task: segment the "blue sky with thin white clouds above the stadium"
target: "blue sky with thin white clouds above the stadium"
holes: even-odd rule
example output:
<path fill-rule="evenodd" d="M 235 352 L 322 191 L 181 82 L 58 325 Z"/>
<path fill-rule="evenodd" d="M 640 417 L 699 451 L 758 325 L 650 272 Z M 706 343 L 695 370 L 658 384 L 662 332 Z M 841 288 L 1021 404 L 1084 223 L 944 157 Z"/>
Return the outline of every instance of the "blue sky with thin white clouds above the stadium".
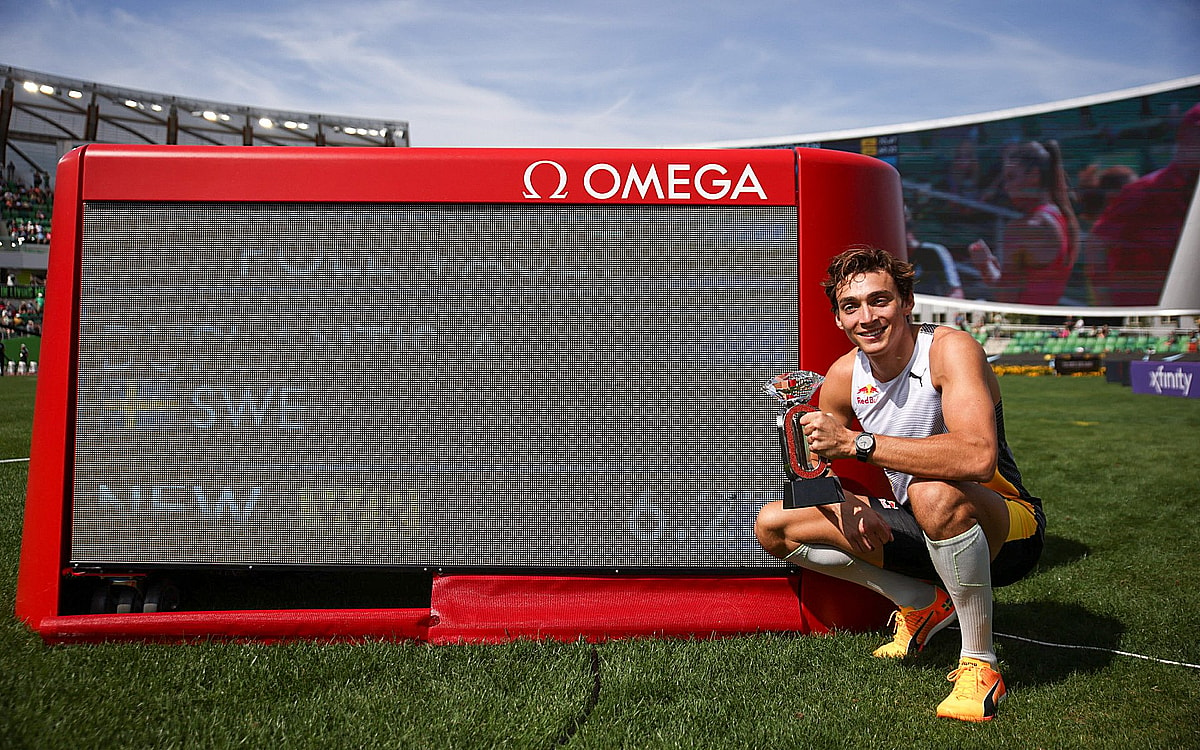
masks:
<path fill-rule="evenodd" d="M 0 64 L 408 120 L 422 146 L 892 125 L 1200 73 L 1195 0 L 0 0 Z"/>

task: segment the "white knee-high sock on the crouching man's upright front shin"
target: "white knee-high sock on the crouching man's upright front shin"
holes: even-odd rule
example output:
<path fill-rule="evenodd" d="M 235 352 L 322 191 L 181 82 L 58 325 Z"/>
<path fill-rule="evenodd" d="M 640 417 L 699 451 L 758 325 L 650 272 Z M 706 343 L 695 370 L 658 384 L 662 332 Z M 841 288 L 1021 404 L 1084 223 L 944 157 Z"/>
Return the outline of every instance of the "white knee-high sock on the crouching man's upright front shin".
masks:
<path fill-rule="evenodd" d="M 934 569 L 959 614 L 962 656 L 996 664 L 991 640 L 991 553 L 988 538 L 977 523 L 966 532 L 934 541 L 925 536 Z"/>

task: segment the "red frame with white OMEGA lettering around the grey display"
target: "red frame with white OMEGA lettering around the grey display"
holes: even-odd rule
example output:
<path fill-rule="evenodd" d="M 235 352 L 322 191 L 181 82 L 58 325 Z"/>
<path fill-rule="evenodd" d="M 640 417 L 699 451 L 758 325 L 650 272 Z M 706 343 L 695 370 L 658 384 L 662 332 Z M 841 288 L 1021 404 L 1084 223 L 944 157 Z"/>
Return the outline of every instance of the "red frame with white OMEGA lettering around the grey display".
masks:
<path fill-rule="evenodd" d="M 822 632 L 882 624 L 874 594 L 814 574 L 437 575 L 428 608 L 62 614 L 83 214 L 89 200 L 301 203 L 638 203 L 798 208 L 802 368 L 847 348 L 818 286 L 852 244 L 905 254 L 896 172 L 840 151 L 626 149 L 269 149 L 89 145 L 55 185 L 53 246 L 17 589 L 17 616 L 48 642 L 136 638 L 415 638 Z M 839 463 L 886 492 L 881 474 Z"/>

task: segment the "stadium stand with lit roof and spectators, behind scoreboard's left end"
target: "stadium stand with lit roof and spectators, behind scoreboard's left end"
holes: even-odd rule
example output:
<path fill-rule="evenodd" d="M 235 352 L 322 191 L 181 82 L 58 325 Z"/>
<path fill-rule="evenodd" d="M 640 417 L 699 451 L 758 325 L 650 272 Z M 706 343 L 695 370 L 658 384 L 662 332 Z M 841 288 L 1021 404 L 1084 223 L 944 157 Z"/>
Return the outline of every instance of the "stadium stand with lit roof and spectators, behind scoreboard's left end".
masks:
<path fill-rule="evenodd" d="M 404 120 L 186 98 L 0 66 L 0 338 L 41 332 L 54 169 L 89 143 L 409 145 Z M 10 353 L 11 354 L 11 353 Z"/>

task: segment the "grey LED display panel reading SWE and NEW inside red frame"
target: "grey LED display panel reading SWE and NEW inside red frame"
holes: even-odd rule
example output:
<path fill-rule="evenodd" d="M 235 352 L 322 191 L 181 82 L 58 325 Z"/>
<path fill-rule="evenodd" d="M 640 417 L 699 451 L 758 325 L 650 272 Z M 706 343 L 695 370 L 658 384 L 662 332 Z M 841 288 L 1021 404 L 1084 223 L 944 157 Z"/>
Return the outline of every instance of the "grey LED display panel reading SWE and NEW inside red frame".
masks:
<path fill-rule="evenodd" d="M 794 206 L 84 206 L 71 563 L 754 568 Z"/>

